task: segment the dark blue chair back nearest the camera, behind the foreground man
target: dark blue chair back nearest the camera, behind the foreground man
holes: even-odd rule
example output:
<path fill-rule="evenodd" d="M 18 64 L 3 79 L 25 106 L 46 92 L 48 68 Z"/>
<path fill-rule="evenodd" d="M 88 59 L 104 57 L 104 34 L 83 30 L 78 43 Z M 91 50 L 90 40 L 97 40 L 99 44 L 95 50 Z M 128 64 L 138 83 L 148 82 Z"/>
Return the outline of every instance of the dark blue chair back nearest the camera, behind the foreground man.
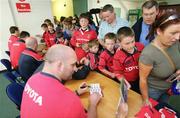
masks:
<path fill-rule="evenodd" d="M 24 87 L 19 85 L 18 83 L 11 83 L 6 87 L 6 94 L 9 99 L 16 104 L 17 109 L 20 110 L 22 94 Z"/>

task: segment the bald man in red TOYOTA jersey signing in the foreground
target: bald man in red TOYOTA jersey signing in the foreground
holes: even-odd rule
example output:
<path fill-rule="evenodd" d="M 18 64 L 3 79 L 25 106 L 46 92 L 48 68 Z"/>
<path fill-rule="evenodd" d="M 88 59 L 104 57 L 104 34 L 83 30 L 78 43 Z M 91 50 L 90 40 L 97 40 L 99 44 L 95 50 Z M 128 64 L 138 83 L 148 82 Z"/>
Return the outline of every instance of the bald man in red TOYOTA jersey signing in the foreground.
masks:
<path fill-rule="evenodd" d="M 27 81 L 21 103 L 21 118 L 95 118 L 100 100 L 98 93 L 90 95 L 87 114 L 79 97 L 61 82 L 72 78 L 76 68 L 76 54 L 65 45 L 54 45 L 46 53 L 42 72 Z M 84 84 L 84 83 L 83 83 Z M 83 85 L 82 84 L 82 85 Z M 87 91 L 76 91 L 78 95 Z M 84 86 L 84 85 L 83 85 Z"/>

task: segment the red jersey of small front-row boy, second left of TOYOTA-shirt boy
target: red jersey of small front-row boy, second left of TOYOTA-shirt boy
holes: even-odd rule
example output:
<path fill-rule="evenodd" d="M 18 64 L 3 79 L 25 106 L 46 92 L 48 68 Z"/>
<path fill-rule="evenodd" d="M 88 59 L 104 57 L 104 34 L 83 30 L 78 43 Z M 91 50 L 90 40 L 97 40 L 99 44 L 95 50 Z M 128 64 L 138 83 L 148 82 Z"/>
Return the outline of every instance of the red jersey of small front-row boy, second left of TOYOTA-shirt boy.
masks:
<path fill-rule="evenodd" d="M 89 52 L 87 54 L 87 58 L 90 61 L 89 66 L 90 66 L 91 70 L 97 70 L 98 69 L 98 62 L 99 62 L 98 54 L 94 54 L 94 53 Z"/>

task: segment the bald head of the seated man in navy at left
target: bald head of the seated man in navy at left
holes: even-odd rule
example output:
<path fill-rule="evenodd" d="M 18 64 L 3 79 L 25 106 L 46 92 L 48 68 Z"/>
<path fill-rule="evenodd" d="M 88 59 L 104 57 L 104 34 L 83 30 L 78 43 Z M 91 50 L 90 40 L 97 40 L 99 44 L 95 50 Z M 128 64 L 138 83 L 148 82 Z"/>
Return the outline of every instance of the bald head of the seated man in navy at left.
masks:
<path fill-rule="evenodd" d="M 28 37 L 26 39 L 26 47 L 27 48 L 31 48 L 33 50 L 36 50 L 37 48 L 37 45 L 38 45 L 38 42 L 37 42 L 37 39 L 34 38 L 34 37 Z"/>

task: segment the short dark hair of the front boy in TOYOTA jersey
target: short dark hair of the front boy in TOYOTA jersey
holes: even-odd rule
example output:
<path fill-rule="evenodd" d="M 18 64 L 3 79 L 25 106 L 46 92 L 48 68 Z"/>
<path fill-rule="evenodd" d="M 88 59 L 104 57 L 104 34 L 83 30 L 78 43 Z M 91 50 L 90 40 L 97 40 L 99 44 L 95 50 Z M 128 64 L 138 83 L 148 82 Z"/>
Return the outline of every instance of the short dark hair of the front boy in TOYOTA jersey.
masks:
<path fill-rule="evenodd" d="M 124 37 L 133 37 L 135 34 L 134 34 L 134 31 L 130 28 L 130 27 L 121 27 L 119 28 L 119 30 L 117 31 L 117 39 L 118 41 L 122 41 L 122 39 Z"/>

